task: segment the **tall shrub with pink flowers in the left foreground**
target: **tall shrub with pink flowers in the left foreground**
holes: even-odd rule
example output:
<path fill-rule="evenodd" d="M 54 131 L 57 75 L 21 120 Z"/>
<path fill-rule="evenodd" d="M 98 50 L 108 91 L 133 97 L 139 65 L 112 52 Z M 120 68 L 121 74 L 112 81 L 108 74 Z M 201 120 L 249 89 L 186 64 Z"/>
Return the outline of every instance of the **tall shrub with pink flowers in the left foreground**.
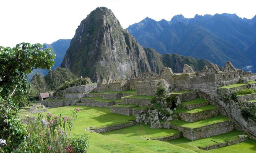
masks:
<path fill-rule="evenodd" d="M 63 114 L 54 116 L 50 112 L 47 113 L 46 119 L 42 120 L 42 115 L 39 114 L 36 122 L 31 122 L 27 126 L 28 135 L 25 140 L 19 145 L 17 152 L 73 152 L 77 148 L 71 143 L 73 138 L 70 137 L 74 121 L 77 118 L 80 110 L 75 108 L 72 112 L 72 117 L 63 116 Z M 75 135 L 77 137 L 77 135 Z M 88 146 L 88 137 L 85 135 L 79 136 L 85 146 Z M 79 144 L 81 145 L 81 144 Z M 86 147 L 87 149 L 87 147 Z M 83 152 L 85 152 L 84 150 Z"/>

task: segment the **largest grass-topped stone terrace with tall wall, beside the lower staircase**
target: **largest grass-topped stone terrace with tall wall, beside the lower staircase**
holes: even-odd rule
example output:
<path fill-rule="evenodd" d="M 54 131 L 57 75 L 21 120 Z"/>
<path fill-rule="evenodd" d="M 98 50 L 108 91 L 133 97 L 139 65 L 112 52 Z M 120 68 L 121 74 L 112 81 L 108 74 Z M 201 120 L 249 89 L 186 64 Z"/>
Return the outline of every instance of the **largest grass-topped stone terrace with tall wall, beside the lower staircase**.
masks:
<path fill-rule="evenodd" d="M 172 129 L 182 131 L 183 137 L 189 140 L 198 140 L 230 132 L 234 129 L 231 119 L 224 116 L 216 116 L 202 119 L 193 123 L 186 121 L 168 121 Z"/>

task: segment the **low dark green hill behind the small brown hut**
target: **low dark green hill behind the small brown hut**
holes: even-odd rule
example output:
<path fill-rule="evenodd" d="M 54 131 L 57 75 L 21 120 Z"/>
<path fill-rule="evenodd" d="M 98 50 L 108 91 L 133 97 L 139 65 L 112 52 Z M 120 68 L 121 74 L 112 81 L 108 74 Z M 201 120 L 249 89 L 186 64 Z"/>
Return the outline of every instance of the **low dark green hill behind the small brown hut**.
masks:
<path fill-rule="evenodd" d="M 68 69 L 60 67 L 49 71 L 46 76 L 37 73 L 30 81 L 32 91 L 30 97 L 38 97 L 39 93 L 56 91 L 57 87 L 65 81 L 73 81 L 74 79 L 77 79 L 77 76 Z"/>

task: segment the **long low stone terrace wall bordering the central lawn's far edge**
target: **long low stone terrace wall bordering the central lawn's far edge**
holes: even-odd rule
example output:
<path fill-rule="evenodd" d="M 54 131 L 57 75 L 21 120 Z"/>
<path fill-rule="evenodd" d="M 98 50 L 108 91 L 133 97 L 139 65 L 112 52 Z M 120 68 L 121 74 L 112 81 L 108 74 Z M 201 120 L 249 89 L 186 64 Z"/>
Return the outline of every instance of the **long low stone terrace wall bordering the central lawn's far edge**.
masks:
<path fill-rule="evenodd" d="M 115 102 L 98 102 L 93 99 L 81 99 L 81 103 L 77 103 L 77 106 L 79 105 L 110 108 L 111 106 L 115 105 Z"/>

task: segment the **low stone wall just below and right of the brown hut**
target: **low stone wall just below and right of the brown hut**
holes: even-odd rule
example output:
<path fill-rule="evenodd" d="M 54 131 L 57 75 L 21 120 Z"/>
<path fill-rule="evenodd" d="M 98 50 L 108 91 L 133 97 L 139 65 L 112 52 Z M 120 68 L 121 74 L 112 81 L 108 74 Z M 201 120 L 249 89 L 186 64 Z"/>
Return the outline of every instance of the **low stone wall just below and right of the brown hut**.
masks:
<path fill-rule="evenodd" d="M 45 107 L 53 108 L 53 107 L 75 105 L 79 101 L 80 101 L 79 99 L 67 99 L 67 100 L 61 100 L 61 101 L 40 101 L 40 103 Z"/>

